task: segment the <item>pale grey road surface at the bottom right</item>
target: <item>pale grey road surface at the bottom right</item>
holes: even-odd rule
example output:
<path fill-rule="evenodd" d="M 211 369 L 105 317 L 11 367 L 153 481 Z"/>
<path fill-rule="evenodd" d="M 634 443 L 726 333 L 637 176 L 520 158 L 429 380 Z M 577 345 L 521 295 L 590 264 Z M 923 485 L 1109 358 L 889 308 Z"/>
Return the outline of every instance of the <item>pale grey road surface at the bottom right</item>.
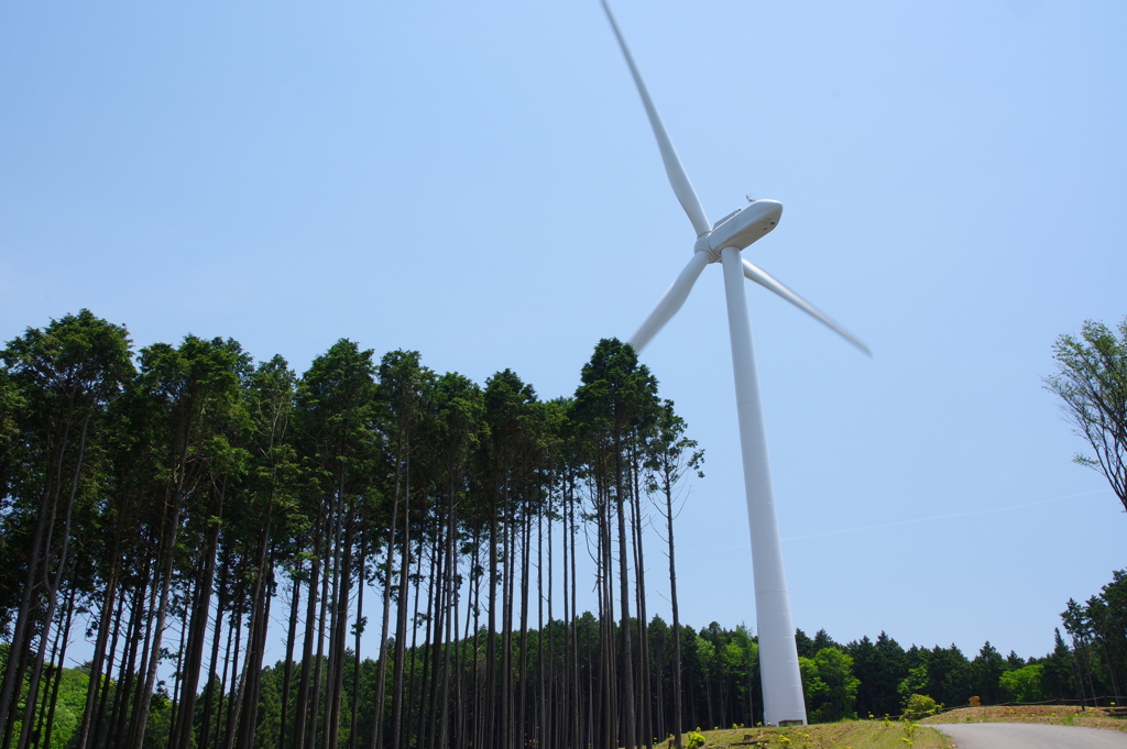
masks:
<path fill-rule="evenodd" d="M 1127 733 L 1037 723 L 931 723 L 959 749 L 1127 749 Z"/>

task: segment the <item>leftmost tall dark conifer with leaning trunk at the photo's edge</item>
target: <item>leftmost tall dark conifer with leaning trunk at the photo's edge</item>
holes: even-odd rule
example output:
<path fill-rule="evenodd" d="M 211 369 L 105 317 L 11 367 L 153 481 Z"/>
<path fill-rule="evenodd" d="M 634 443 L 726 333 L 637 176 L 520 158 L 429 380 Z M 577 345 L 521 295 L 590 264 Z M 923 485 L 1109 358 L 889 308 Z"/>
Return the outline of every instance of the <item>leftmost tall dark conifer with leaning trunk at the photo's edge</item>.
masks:
<path fill-rule="evenodd" d="M 0 448 L 10 465 L 12 429 L 17 428 L 25 466 L 15 475 L 9 467 L 3 482 L 17 499 L 16 523 L 23 525 L 27 538 L 23 591 L 0 681 L 0 728 L 7 746 L 17 717 L 11 710 L 16 687 L 30 669 L 20 739 L 27 741 L 68 569 L 76 502 L 91 480 L 87 454 L 100 437 L 109 402 L 132 375 L 132 364 L 125 328 L 95 318 L 88 310 L 52 321 L 45 329 L 28 329 L 8 344 L 0 358 L 6 368 L 0 382 L 5 399 Z M 23 401 L 18 411 L 14 408 L 17 400 Z M 33 651 L 29 644 L 36 630 L 39 644 Z"/>

